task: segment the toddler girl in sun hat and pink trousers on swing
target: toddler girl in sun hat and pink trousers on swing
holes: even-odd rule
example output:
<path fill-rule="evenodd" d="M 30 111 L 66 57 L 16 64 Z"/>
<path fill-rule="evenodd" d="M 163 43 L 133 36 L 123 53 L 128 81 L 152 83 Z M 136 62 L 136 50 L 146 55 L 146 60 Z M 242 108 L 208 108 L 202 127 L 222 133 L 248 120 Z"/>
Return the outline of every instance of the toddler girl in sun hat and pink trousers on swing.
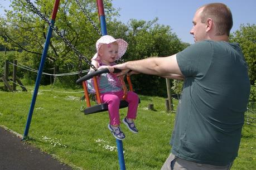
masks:
<path fill-rule="evenodd" d="M 110 73 L 105 73 L 97 77 L 100 98 L 103 103 L 108 104 L 108 113 L 110 123 L 108 124 L 109 130 L 112 132 L 115 138 L 123 140 L 125 138 L 124 133 L 120 129 L 119 118 L 119 104 L 124 95 L 122 89 L 122 81 L 114 73 L 115 61 L 122 57 L 127 49 L 128 43 L 122 39 L 115 39 L 112 36 L 106 35 L 99 38 L 96 42 L 96 54 L 91 59 L 96 69 L 108 69 Z M 93 69 L 90 70 L 94 71 Z M 90 93 L 95 93 L 93 88 L 93 80 L 88 81 L 88 89 Z M 125 101 L 128 102 L 127 116 L 123 119 L 123 123 L 133 133 L 138 133 L 137 128 L 134 125 L 134 119 L 136 119 L 137 108 L 139 98 L 133 91 L 127 91 Z"/>

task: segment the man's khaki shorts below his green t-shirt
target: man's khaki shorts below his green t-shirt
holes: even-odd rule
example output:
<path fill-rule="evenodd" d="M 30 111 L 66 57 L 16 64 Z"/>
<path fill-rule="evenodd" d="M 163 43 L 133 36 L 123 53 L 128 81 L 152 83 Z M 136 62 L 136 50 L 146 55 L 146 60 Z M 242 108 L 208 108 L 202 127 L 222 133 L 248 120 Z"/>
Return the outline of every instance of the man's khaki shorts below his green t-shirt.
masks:
<path fill-rule="evenodd" d="M 209 164 L 186 161 L 171 153 L 163 164 L 161 170 L 230 170 L 232 163 L 233 162 L 227 166 L 211 166 Z"/>

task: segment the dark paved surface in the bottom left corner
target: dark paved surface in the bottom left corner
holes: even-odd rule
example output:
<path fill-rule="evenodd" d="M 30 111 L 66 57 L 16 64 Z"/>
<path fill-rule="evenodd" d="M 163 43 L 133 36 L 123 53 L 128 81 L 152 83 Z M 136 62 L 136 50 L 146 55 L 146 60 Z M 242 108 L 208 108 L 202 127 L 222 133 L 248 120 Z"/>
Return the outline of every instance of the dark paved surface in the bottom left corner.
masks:
<path fill-rule="evenodd" d="M 0 127 L 0 170 L 72 170 Z"/>

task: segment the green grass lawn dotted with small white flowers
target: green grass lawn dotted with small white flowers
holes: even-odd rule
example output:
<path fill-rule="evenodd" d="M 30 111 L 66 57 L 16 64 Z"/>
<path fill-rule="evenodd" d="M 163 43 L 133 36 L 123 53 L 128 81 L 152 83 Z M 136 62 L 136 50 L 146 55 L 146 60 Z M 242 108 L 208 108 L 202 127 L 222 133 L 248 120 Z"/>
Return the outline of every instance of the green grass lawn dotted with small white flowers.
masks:
<path fill-rule="evenodd" d="M 13 93 L 0 91 L 0 125 L 23 135 L 32 99 L 31 89 Z M 40 86 L 40 90 L 50 89 L 51 86 Z M 54 90 L 39 91 L 27 142 L 74 169 L 119 169 L 115 138 L 107 128 L 107 112 L 84 115 L 81 110 L 85 102 L 80 101 L 83 93 L 56 87 Z M 121 124 L 126 135 L 123 140 L 125 167 L 129 170 L 160 169 L 170 153 L 168 143 L 175 114 L 166 113 L 164 98 L 142 95 L 140 98 L 136 120 L 139 133 L 133 134 Z M 176 109 L 177 100 L 173 102 Z M 154 110 L 147 110 L 151 103 Z M 126 111 L 126 108 L 120 109 L 121 118 Z M 255 169 L 255 139 L 256 127 L 245 124 L 239 156 L 232 170 Z"/>

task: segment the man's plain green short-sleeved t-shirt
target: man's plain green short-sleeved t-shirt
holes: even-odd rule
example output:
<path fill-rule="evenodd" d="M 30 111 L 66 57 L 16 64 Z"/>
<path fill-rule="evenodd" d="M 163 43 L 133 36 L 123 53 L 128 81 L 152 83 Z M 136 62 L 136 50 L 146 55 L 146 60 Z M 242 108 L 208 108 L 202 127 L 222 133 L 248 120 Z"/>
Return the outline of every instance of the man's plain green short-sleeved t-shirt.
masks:
<path fill-rule="evenodd" d="M 188 161 L 225 166 L 238 154 L 250 93 L 238 43 L 201 41 L 177 54 L 185 76 L 170 144 Z"/>

